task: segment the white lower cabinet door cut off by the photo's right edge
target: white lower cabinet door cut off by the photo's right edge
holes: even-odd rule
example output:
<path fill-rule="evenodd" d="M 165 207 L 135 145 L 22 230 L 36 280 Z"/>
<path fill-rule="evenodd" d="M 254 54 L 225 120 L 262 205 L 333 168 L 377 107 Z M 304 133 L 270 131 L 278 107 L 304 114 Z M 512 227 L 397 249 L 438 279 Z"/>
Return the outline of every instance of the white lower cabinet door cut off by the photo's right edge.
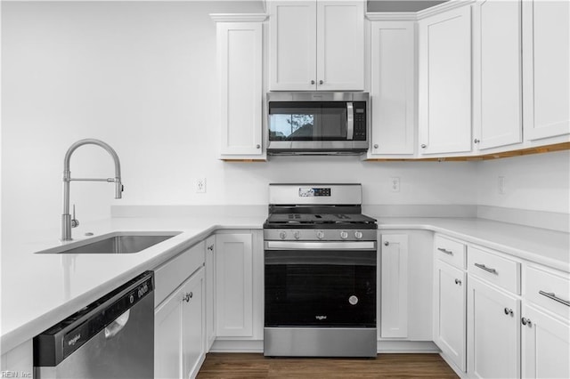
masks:
<path fill-rule="evenodd" d="M 524 378 L 570 377 L 570 325 L 548 312 L 524 305 L 522 367 Z"/>

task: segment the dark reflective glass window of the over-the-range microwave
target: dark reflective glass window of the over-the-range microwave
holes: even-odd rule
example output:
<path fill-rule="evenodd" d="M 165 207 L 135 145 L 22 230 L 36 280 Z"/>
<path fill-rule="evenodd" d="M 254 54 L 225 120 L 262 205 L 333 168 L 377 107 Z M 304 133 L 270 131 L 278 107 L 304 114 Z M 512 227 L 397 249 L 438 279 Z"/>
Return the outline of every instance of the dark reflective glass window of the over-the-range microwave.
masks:
<path fill-rule="evenodd" d="M 345 139 L 345 102 L 273 101 L 269 104 L 269 141 Z"/>

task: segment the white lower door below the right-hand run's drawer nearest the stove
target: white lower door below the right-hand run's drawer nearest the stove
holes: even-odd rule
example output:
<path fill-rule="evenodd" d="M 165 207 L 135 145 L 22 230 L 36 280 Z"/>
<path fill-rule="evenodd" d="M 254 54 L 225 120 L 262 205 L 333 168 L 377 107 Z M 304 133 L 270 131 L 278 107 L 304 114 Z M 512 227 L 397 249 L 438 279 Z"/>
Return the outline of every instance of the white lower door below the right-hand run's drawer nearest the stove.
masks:
<path fill-rule="evenodd" d="M 434 342 L 461 371 L 466 371 L 465 272 L 437 261 L 434 275 Z"/>

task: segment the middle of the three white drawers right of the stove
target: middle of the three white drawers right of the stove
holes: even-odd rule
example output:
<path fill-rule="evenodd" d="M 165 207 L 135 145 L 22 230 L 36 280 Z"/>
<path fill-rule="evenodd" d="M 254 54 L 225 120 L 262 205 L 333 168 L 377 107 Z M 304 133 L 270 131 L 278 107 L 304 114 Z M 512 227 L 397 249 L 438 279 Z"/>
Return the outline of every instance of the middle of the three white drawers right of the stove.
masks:
<path fill-rule="evenodd" d="M 512 293 L 520 294 L 520 263 L 518 262 L 469 246 L 468 272 Z"/>

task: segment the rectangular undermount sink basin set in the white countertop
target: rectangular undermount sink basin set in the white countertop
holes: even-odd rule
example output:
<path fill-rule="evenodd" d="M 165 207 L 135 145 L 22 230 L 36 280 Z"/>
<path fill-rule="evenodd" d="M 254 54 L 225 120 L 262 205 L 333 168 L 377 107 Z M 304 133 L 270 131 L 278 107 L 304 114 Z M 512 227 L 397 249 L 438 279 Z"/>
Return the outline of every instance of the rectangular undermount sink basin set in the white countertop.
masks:
<path fill-rule="evenodd" d="M 180 234 L 180 231 L 116 231 L 37 254 L 133 254 Z"/>

